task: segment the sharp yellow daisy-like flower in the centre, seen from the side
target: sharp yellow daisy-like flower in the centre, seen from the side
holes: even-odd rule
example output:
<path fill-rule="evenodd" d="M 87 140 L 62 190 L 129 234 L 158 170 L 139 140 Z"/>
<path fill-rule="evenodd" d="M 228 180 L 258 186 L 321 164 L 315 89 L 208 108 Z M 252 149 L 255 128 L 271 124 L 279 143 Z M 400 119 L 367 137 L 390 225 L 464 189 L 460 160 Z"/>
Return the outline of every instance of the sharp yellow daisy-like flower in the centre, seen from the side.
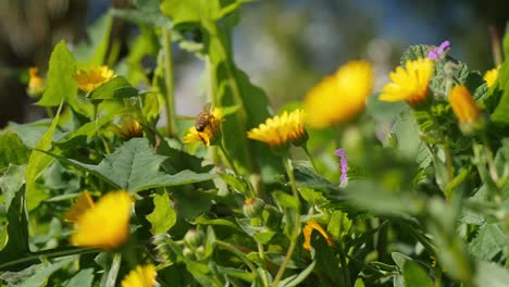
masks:
<path fill-rule="evenodd" d="M 300 146 L 308 139 L 308 133 L 305 128 L 305 112 L 300 109 L 291 113 L 285 111 L 282 115 L 270 117 L 265 123 L 249 130 L 247 137 L 265 142 L 271 147 L 283 147 L 289 144 Z"/>

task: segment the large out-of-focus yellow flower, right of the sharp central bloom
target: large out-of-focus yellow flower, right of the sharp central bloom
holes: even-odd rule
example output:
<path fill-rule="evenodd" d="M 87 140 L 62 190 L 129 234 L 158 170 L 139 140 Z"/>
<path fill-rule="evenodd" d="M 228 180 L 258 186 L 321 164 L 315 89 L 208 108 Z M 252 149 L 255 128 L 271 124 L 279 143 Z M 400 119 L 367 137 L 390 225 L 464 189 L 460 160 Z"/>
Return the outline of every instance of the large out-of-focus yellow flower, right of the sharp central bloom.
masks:
<path fill-rule="evenodd" d="M 373 89 L 373 68 L 365 61 L 339 67 L 311 88 L 305 99 L 308 124 L 321 128 L 344 123 L 364 110 Z"/>

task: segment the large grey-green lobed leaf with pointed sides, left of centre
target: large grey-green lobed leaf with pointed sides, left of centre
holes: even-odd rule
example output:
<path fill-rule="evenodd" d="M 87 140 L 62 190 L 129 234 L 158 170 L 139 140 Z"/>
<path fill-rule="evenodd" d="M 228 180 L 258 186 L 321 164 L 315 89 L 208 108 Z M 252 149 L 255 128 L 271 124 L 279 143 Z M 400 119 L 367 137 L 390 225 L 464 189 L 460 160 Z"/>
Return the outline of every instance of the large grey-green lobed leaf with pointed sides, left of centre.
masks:
<path fill-rule="evenodd" d="M 188 170 L 174 175 L 161 172 L 160 165 L 166 157 L 153 154 L 147 138 L 132 138 L 113 153 L 108 154 L 99 165 L 61 157 L 59 160 L 90 172 L 115 188 L 133 192 L 156 187 L 206 182 L 216 177 L 215 174 L 197 174 Z"/>

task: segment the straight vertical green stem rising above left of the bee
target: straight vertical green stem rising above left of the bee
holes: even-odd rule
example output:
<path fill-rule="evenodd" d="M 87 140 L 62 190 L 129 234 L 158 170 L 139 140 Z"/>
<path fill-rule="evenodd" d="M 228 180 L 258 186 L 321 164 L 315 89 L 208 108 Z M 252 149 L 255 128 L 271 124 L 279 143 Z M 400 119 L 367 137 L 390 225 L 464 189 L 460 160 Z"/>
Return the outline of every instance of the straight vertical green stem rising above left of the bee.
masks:
<path fill-rule="evenodd" d="M 167 136 L 175 136 L 175 95 L 173 82 L 172 36 L 169 29 L 163 28 L 164 52 L 164 86 L 166 87 L 166 130 Z"/>

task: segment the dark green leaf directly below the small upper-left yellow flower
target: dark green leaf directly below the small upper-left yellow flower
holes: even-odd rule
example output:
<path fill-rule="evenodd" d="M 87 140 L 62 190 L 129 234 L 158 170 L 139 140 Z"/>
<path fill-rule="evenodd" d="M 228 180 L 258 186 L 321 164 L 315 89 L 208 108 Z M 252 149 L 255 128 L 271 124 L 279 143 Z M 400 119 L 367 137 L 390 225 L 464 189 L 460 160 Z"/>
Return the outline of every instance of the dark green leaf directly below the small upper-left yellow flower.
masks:
<path fill-rule="evenodd" d="M 133 88 L 123 76 L 116 76 L 99 86 L 90 93 L 92 100 L 111 100 L 138 96 L 138 90 Z"/>

